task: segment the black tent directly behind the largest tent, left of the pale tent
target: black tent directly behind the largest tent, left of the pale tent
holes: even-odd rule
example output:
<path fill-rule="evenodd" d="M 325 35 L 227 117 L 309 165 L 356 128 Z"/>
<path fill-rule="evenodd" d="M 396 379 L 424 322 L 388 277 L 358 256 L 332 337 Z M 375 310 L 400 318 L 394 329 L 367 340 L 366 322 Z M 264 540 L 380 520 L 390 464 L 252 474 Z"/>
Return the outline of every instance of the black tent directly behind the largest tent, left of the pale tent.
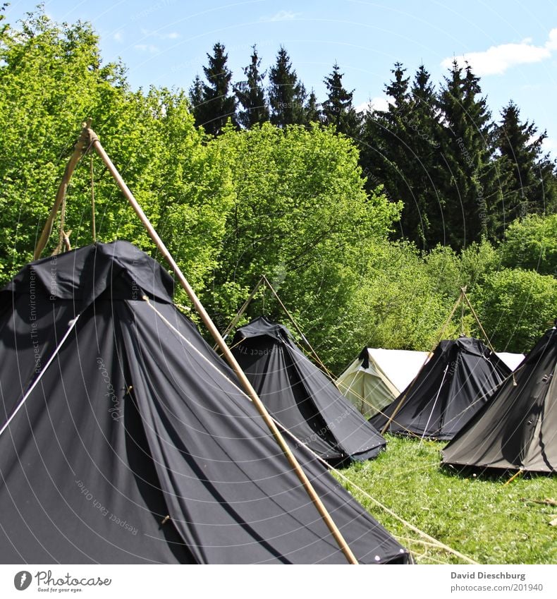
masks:
<path fill-rule="evenodd" d="M 233 353 L 270 413 L 327 461 L 372 459 L 379 432 L 343 397 L 283 325 L 261 316 L 238 329 Z"/>

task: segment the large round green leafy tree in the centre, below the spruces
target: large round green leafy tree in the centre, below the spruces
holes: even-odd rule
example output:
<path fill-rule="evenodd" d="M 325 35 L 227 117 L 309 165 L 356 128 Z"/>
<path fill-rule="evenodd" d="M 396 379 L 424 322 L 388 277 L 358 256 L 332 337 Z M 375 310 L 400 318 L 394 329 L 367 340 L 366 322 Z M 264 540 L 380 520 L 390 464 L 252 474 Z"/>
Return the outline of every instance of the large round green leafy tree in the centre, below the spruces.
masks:
<path fill-rule="evenodd" d="M 218 322 L 232 317 L 264 273 L 281 280 L 283 301 L 307 325 L 308 338 L 321 344 L 343 315 L 363 246 L 386 236 L 398 206 L 381 193 L 367 196 L 355 148 L 329 128 L 264 123 L 228 129 L 216 142 L 235 174 L 210 300 Z M 268 299 L 271 309 L 283 318 Z M 252 303 L 246 317 L 259 310 L 262 304 Z"/>

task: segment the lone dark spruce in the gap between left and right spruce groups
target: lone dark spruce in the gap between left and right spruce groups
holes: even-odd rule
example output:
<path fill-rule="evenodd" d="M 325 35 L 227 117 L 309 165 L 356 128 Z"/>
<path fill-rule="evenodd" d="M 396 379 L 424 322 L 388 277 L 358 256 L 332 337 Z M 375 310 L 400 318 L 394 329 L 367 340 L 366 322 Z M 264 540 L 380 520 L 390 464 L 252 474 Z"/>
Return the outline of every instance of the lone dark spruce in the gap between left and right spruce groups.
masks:
<path fill-rule="evenodd" d="M 360 118 L 356 113 L 352 97 L 353 92 L 348 92 L 343 86 L 343 75 L 338 64 L 335 63 L 333 71 L 324 79 L 327 89 L 327 99 L 323 102 L 323 122 L 333 125 L 338 133 L 344 133 L 350 138 L 357 138 L 360 129 Z"/>

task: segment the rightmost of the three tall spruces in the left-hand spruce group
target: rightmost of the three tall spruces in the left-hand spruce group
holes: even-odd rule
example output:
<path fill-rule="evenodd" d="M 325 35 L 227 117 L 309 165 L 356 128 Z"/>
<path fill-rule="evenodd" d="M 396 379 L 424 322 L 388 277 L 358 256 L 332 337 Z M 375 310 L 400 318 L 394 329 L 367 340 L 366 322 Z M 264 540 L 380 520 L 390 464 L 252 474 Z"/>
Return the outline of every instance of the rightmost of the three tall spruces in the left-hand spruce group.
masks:
<path fill-rule="evenodd" d="M 279 127 L 307 123 L 304 108 L 305 87 L 298 80 L 288 52 L 283 47 L 279 49 L 276 63 L 269 71 L 268 95 L 271 123 Z"/>

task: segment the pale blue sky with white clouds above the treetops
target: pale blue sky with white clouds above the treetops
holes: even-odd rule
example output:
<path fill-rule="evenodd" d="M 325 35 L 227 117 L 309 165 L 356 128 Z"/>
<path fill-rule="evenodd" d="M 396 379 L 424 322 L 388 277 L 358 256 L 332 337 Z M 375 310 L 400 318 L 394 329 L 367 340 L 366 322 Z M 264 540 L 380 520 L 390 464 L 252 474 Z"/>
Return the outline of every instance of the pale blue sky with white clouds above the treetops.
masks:
<path fill-rule="evenodd" d="M 13 0 L 8 22 L 36 1 Z M 355 105 L 386 102 L 393 63 L 413 75 L 424 63 L 439 85 L 454 56 L 467 56 L 481 76 L 495 116 L 513 99 L 523 120 L 547 130 L 557 156 L 557 1 L 365 0 L 45 1 L 58 21 L 89 20 L 105 61 L 128 66 L 133 87 L 188 89 L 215 42 L 223 43 L 234 80 L 257 44 L 268 68 L 281 44 L 308 90 L 324 99 L 325 75 L 338 62 Z"/>

